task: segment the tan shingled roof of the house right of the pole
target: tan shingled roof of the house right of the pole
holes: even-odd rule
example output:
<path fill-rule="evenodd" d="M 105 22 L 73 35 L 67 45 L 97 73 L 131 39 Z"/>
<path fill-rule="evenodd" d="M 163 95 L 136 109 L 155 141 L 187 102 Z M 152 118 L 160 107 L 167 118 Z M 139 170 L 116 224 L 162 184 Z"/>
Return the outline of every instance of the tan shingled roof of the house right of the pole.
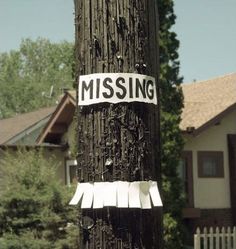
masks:
<path fill-rule="evenodd" d="M 180 128 L 200 132 L 217 124 L 236 108 L 236 73 L 183 84 L 184 109 Z"/>

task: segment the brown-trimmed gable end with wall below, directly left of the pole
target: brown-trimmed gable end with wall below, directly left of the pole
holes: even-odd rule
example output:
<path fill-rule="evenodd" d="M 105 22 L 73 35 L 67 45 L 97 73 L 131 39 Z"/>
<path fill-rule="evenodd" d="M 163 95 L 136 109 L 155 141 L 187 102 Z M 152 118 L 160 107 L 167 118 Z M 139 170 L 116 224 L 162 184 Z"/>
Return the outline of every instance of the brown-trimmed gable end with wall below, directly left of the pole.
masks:
<path fill-rule="evenodd" d="M 50 116 L 44 129 L 37 138 L 37 145 L 58 144 L 66 145 L 67 149 L 60 156 L 62 157 L 60 165 L 60 178 L 67 185 L 76 180 L 76 107 L 75 91 L 68 91 L 62 97 L 55 111 Z"/>

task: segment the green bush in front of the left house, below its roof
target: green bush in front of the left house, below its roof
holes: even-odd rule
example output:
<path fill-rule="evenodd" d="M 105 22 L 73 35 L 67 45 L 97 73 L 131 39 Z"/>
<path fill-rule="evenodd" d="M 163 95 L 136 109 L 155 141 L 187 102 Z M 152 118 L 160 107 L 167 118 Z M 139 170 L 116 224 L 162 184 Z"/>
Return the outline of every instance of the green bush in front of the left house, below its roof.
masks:
<path fill-rule="evenodd" d="M 78 249 L 74 189 L 56 179 L 54 161 L 39 151 L 1 160 L 0 248 Z"/>

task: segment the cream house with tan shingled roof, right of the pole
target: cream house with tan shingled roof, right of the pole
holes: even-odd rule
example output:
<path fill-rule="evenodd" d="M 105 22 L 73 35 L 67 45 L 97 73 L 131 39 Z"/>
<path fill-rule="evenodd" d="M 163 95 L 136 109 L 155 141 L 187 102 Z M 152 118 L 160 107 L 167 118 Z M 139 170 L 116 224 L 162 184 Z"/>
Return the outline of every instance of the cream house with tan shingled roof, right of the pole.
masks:
<path fill-rule="evenodd" d="M 180 172 L 188 196 L 186 223 L 236 224 L 236 73 L 183 84 Z"/>

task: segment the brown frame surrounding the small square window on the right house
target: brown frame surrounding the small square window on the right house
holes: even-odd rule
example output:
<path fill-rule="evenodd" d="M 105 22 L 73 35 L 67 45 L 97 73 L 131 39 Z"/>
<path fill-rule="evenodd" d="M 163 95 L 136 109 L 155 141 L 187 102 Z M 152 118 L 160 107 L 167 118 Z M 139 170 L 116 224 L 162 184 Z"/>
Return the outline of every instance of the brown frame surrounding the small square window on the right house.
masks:
<path fill-rule="evenodd" d="M 216 159 L 216 174 L 205 175 L 203 172 L 204 157 L 214 157 Z M 199 178 L 224 178 L 224 152 L 223 151 L 198 151 L 198 177 Z"/>

